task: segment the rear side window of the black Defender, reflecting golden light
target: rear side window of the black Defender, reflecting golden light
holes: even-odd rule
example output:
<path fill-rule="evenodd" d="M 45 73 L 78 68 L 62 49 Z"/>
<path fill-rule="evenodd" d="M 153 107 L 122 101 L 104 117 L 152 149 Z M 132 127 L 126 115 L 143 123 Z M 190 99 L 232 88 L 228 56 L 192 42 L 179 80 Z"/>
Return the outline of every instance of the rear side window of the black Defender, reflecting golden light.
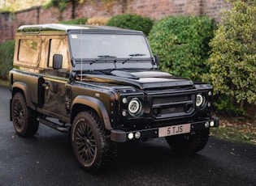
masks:
<path fill-rule="evenodd" d="M 40 39 L 20 39 L 18 61 L 37 66 L 40 60 L 41 40 Z"/>

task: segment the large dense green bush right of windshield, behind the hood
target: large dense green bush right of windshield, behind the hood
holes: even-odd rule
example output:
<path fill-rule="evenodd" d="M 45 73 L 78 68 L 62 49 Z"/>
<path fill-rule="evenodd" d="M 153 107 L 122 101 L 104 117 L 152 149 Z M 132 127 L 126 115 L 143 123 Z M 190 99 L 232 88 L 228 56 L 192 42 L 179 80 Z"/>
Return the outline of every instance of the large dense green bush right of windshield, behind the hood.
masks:
<path fill-rule="evenodd" d="M 169 16 L 154 24 L 149 36 L 160 68 L 171 74 L 201 80 L 213 37 L 213 21 L 207 17 Z"/>

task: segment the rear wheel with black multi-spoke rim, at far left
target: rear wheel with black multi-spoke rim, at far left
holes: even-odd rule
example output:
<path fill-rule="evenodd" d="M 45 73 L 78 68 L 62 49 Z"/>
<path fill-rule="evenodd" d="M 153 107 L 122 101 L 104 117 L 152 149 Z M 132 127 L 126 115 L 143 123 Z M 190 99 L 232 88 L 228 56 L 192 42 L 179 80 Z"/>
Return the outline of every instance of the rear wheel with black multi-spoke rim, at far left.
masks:
<path fill-rule="evenodd" d="M 37 133 L 37 113 L 27 107 L 24 95 L 20 92 L 12 99 L 11 115 L 15 131 L 20 137 L 33 137 Z"/>

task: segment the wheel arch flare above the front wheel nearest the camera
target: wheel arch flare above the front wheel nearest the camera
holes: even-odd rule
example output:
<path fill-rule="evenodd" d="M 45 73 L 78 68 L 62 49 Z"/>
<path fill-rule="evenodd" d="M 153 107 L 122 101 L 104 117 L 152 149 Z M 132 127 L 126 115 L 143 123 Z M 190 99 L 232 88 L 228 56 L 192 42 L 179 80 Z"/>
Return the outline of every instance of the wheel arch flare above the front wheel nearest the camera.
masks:
<path fill-rule="evenodd" d="M 74 108 L 76 104 L 83 104 L 85 106 L 88 106 L 89 108 L 93 108 L 98 113 L 98 116 L 100 117 L 100 120 L 102 120 L 102 122 L 104 123 L 105 128 L 108 130 L 112 129 L 111 121 L 106 111 L 106 108 L 100 100 L 89 97 L 87 95 L 78 95 L 72 103 L 72 108 Z"/>

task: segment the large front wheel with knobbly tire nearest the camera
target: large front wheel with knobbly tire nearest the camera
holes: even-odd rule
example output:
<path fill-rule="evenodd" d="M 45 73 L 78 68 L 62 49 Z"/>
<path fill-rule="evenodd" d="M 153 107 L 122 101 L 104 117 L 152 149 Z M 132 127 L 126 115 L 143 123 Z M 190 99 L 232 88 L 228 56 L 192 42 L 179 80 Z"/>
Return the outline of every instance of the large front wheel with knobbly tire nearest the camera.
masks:
<path fill-rule="evenodd" d="M 111 142 L 94 112 L 80 112 L 72 125 L 72 150 L 80 167 L 88 172 L 100 171 L 116 157 L 117 146 Z"/>

